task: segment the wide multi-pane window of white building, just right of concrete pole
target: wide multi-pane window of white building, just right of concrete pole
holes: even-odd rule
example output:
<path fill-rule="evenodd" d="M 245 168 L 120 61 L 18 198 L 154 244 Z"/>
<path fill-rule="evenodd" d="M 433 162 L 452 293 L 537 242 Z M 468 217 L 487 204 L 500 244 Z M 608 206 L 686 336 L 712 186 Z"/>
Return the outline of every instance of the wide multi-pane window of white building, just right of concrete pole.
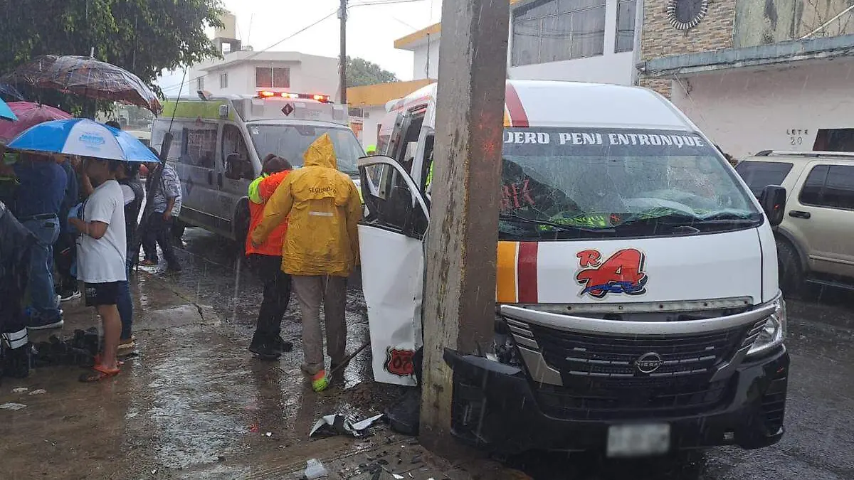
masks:
<path fill-rule="evenodd" d="M 602 55 L 605 0 L 531 3 L 513 12 L 512 28 L 513 66 Z"/>

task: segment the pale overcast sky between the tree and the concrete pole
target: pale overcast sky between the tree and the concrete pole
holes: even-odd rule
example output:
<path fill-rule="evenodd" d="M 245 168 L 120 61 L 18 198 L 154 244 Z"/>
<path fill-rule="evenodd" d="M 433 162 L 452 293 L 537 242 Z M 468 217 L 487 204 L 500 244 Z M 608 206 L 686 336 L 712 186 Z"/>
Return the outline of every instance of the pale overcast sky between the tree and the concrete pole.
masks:
<path fill-rule="evenodd" d="M 259 51 L 336 12 L 339 0 L 224 0 L 224 3 L 225 9 L 237 15 L 237 37 L 243 45 Z M 348 56 L 372 61 L 395 73 L 398 79 L 411 80 L 412 52 L 395 50 L 395 39 L 439 21 L 442 0 L 348 0 L 348 4 Z M 338 32 L 338 17 L 332 15 L 271 51 L 337 57 Z M 182 73 L 166 73 L 158 82 L 167 96 L 178 94 Z"/>

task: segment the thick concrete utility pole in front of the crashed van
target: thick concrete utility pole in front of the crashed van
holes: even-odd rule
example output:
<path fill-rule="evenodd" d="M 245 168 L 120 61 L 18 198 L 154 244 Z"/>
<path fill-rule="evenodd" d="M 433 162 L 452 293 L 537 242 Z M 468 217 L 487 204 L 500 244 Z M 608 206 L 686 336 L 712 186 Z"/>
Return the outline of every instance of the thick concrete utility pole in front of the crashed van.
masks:
<path fill-rule="evenodd" d="M 485 349 L 494 335 L 509 0 L 445 0 L 436 150 L 424 286 L 420 436 L 448 448 L 452 370 L 445 348 Z"/>

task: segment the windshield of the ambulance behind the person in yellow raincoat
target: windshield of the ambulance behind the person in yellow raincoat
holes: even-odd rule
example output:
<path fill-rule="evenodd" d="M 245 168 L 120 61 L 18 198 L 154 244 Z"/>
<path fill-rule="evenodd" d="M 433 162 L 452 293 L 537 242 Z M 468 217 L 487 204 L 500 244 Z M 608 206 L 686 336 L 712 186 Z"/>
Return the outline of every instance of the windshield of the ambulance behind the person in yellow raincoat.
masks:
<path fill-rule="evenodd" d="M 338 170 L 348 175 L 358 175 L 356 161 L 365 156 L 353 131 L 346 126 L 307 126 L 289 124 L 249 124 L 249 135 L 260 158 L 267 154 L 279 155 L 294 167 L 302 167 L 302 155 L 308 146 L 324 133 L 329 133 L 335 146 Z"/>

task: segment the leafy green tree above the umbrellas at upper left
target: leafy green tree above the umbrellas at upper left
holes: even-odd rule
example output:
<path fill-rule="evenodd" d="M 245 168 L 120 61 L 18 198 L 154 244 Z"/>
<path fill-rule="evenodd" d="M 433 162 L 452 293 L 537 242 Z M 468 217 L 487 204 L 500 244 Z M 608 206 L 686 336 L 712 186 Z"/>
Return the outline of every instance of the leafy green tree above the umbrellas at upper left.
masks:
<path fill-rule="evenodd" d="M 223 11 L 220 0 L 0 0 L 0 73 L 35 56 L 88 56 L 94 48 L 97 60 L 159 91 L 154 82 L 162 70 L 219 56 L 205 28 L 222 26 Z M 79 107 L 71 96 L 39 95 Z"/>

